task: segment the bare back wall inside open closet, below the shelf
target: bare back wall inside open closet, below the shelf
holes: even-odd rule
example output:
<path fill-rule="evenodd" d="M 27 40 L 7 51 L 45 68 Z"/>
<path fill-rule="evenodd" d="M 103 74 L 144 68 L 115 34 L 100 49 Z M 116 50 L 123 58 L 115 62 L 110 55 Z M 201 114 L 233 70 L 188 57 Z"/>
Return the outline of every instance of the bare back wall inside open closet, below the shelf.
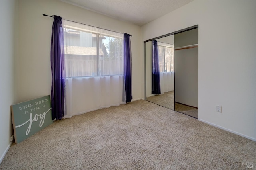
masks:
<path fill-rule="evenodd" d="M 198 47 L 175 51 L 175 102 L 198 107 Z"/>

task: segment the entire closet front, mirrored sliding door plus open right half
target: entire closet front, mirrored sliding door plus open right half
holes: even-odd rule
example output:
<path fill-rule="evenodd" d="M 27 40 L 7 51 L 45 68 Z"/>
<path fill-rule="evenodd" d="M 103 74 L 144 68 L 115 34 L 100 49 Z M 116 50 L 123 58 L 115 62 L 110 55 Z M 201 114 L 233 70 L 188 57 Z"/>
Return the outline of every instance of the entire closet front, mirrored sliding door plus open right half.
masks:
<path fill-rule="evenodd" d="M 144 48 L 146 100 L 198 119 L 198 25 Z"/>

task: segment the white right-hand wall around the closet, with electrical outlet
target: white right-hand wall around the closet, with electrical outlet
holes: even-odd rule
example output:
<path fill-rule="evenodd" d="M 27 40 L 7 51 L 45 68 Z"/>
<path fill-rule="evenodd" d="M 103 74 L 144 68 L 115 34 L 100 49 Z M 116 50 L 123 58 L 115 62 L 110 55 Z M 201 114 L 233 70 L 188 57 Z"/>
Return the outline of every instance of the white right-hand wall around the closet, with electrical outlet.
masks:
<path fill-rule="evenodd" d="M 142 39 L 198 24 L 199 120 L 256 141 L 255 9 L 255 0 L 195 0 L 144 25 Z"/>

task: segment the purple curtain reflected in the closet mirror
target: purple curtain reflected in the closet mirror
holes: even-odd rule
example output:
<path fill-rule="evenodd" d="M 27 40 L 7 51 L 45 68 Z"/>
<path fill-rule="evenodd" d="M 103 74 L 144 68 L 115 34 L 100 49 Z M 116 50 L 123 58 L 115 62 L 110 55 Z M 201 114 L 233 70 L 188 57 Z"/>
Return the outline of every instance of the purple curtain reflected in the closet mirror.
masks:
<path fill-rule="evenodd" d="M 156 40 L 153 41 L 152 49 L 152 94 L 161 94 L 158 47 Z"/>

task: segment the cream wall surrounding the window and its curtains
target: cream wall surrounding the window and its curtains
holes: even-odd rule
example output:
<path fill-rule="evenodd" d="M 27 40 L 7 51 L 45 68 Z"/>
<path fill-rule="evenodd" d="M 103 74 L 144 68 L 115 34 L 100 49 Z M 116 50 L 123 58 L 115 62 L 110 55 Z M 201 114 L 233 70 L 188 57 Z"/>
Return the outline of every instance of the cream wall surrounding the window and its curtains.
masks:
<path fill-rule="evenodd" d="M 59 0 L 19 0 L 19 47 L 17 62 L 18 101 L 48 95 L 51 92 L 50 43 L 53 18 L 85 23 L 117 32 L 133 35 L 132 88 L 134 100 L 142 98 L 143 46 L 141 29 L 137 25 L 97 14 L 66 4 Z M 144 85 L 144 84 L 143 84 Z"/>

